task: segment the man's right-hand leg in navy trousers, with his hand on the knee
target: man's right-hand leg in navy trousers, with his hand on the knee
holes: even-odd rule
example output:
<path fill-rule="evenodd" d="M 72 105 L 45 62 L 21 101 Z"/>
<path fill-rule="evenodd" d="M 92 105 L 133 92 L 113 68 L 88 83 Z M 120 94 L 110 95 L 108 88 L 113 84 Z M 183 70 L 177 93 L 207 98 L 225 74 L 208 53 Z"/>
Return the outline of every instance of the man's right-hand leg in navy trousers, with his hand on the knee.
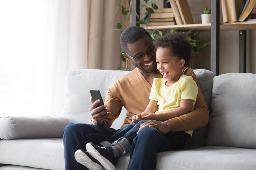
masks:
<path fill-rule="evenodd" d="M 155 170 L 157 152 L 181 149 L 190 135 L 186 132 L 163 134 L 156 128 L 145 127 L 134 138 L 130 147 L 129 170 Z"/>

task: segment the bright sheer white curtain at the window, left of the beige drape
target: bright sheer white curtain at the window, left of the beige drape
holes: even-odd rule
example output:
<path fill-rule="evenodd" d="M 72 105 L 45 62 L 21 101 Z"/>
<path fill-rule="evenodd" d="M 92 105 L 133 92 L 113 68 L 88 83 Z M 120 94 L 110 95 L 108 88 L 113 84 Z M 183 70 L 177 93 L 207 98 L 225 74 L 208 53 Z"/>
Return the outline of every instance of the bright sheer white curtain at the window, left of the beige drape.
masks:
<path fill-rule="evenodd" d="M 86 23 L 87 0 L 0 0 L 0 116 L 61 114 L 66 73 L 87 68 Z"/>

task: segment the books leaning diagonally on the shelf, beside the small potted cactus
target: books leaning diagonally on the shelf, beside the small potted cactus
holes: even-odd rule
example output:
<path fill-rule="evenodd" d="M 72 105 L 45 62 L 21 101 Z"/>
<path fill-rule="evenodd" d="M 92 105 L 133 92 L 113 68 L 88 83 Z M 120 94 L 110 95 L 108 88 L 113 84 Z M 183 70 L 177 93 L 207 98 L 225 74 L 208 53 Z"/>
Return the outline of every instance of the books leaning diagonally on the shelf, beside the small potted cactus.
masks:
<path fill-rule="evenodd" d="M 194 24 L 187 0 L 170 0 L 170 4 L 171 8 L 173 9 L 174 18 L 178 25 Z"/>

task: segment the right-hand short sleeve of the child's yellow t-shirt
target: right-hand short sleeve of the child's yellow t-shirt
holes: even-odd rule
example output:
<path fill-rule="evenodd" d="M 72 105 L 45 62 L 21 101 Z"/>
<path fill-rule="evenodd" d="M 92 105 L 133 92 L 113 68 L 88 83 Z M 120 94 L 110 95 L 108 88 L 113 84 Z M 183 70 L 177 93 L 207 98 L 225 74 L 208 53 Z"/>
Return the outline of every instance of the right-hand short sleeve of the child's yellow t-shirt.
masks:
<path fill-rule="evenodd" d="M 191 99 L 196 101 L 198 94 L 198 87 L 192 77 L 187 78 L 181 86 L 181 98 Z"/>

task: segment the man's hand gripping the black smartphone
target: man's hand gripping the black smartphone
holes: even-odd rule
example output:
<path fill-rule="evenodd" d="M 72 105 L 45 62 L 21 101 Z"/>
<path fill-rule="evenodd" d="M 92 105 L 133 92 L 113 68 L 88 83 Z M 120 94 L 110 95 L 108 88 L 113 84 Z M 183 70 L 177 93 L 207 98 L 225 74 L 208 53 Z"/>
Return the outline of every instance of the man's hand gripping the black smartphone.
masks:
<path fill-rule="evenodd" d="M 100 103 L 100 100 L 96 100 L 95 102 L 93 102 L 92 97 L 90 100 L 92 103 L 92 106 L 90 107 L 90 112 L 93 118 L 93 122 L 95 125 L 102 125 L 103 119 L 107 118 L 110 115 L 110 110 L 109 108 L 106 108 L 106 105 L 97 107 L 97 105 Z"/>

